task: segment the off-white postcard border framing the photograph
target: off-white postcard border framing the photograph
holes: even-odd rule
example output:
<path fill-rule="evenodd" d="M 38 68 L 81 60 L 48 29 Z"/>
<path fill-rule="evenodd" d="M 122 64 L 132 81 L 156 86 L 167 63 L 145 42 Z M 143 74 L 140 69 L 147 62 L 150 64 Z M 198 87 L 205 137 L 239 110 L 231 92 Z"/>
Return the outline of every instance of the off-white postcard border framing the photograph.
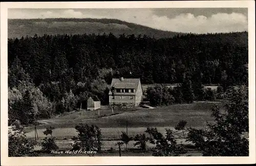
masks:
<path fill-rule="evenodd" d="M 1 3 L 1 165 L 131 165 L 255 163 L 255 2 L 36 2 Z M 249 157 L 8 157 L 7 11 L 8 8 L 248 8 Z"/>

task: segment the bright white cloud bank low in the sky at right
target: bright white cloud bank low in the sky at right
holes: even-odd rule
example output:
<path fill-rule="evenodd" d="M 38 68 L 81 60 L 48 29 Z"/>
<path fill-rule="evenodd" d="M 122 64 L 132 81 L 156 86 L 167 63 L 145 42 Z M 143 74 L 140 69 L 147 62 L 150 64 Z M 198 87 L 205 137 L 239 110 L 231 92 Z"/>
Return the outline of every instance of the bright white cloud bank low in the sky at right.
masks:
<path fill-rule="evenodd" d="M 132 22 L 140 23 L 139 20 Z M 174 18 L 152 15 L 142 24 L 155 29 L 184 33 L 226 33 L 248 30 L 247 17 L 240 13 L 218 13 L 208 18 L 203 15 L 195 17 L 191 13 L 180 14 Z"/>

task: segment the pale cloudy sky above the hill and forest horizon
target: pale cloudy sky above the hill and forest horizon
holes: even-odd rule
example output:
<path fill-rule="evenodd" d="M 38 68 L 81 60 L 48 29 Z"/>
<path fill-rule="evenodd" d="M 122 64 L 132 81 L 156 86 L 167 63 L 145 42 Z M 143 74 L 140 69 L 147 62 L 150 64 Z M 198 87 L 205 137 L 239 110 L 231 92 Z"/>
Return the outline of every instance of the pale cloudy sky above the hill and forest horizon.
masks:
<path fill-rule="evenodd" d="M 114 18 L 183 33 L 248 31 L 247 8 L 8 9 L 8 18 Z"/>

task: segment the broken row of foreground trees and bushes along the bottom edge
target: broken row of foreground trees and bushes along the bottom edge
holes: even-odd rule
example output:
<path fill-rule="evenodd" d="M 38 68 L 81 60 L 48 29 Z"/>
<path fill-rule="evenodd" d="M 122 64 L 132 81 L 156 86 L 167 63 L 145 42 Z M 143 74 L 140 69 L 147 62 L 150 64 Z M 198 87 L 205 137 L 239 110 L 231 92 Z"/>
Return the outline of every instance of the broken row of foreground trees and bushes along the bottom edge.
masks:
<path fill-rule="evenodd" d="M 229 99 L 222 111 L 217 105 L 211 109 L 211 115 L 214 117 L 214 123 L 208 123 L 206 129 L 188 128 L 186 121 L 181 120 L 176 126 L 176 130 L 182 130 L 183 137 L 187 142 L 193 143 L 194 147 L 202 152 L 203 156 L 248 156 L 249 142 L 248 137 L 248 91 L 243 87 L 233 89 Z M 12 131 L 9 131 L 9 156 L 35 156 L 33 151 L 35 144 L 29 141 L 24 134 L 24 126 L 19 121 L 12 125 Z M 95 125 L 78 124 L 78 132 L 74 136 L 73 150 L 101 151 L 102 133 L 100 128 Z M 58 149 L 55 143 L 55 137 L 52 137 L 52 130 L 49 127 L 44 131 L 45 137 L 40 143 L 42 152 L 49 153 L 51 150 Z M 188 133 L 185 136 L 183 130 Z M 156 127 L 147 127 L 144 133 L 136 134 L 134 137 L 128 136 L 125 132 L 120 135 L 120 141 L 116 144 L 121 156 L 121 146 L 129 144 L 134 140 L 134 146 L 138 146 L 141 152 L 146 152 L 147 144 L 155 145 L 152 149 L 153 156 L 180 156 L 186 153 L 186 147 L 178 144 L 173 130 L 166 128 L 165 135 L 160 133 Z M 112 149 L 113 151 L 113 149 Z"/>

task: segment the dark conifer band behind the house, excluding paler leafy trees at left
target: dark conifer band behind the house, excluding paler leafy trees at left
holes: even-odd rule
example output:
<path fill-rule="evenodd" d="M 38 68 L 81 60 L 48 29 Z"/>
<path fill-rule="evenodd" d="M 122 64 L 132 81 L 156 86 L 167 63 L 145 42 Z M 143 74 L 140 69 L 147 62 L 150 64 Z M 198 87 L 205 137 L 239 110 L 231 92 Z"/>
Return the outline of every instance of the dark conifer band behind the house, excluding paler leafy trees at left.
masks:
<path fill-rule="evenodd" d="M 166 39 L 116 37 L 111 33 L 27 36 L 8 39 L 8 66 L 16 76 L 13 70 L 18 59 L 35 86 L 61 82 L 61 78 L 66 79 L 66 84 L 83 81 L 96 77 L 102 68 L 113 69 L 124 77 L 139 77 L 142 84 L 179 83 L 184 73 L 189 77 L 202 75 L 203 84 L 219 84 L 222 72 L 226 72 L 228 84 L 241 85 L 247 82 L 248 64 L 248 41 L 242 36 L 248 39 L 247 32 Z M 12 88 L 16 84 L 11 78 Z M 66 85 L 67 91 L 70 86 Z"/>

